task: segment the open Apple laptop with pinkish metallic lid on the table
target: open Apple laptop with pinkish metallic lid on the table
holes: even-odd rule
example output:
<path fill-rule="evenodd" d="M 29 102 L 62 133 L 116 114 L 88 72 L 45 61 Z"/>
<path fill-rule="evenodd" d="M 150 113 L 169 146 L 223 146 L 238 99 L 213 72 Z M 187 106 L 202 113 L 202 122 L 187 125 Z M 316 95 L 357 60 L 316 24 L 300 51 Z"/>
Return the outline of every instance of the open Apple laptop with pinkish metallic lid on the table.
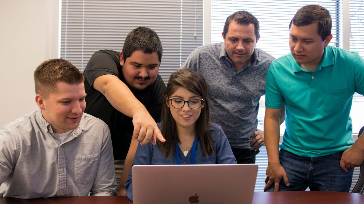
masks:
<path fill-rule="evenodd" d="M 257 172 L 257 164 L 135 165 L 133 203 L 251 204 Z"/>

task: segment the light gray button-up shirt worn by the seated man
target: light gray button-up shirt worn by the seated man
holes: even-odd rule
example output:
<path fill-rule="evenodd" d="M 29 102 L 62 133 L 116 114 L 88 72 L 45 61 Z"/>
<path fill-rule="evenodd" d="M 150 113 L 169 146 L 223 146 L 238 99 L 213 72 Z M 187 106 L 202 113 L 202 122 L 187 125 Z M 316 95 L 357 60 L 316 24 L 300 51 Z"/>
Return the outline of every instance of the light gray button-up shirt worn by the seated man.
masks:
<path fill-rule="evenodd" d="M 0 197 L 116 195 L 110 131 L 83 114 L 60 142 L 39 110 L 0 129 Z"/>

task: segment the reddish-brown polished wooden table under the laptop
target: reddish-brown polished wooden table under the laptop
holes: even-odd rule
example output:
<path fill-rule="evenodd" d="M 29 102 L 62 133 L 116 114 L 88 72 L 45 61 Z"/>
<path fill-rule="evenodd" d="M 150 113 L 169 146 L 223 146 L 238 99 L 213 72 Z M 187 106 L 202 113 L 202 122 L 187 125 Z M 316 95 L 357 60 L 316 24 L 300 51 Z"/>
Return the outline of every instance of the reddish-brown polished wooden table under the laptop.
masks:
<path fill-rule="evenodd" d="M 0 204 L 132 204 L 126 196 L 52 197 L 39 199 L 0 198 Z M 327 191 L 255 192 L 253 204 L 360 204 L 364 195 Z"/>

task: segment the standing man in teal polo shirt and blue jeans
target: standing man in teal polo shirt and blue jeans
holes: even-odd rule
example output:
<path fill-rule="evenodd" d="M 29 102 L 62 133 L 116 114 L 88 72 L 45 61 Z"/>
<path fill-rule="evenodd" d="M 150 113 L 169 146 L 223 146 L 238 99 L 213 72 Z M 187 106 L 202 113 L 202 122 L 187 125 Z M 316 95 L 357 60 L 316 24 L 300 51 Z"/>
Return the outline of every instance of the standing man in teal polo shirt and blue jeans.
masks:
<path fill-rule="evenodd" d="M 273 61 L 266 79 L 264 137 L 268 152 L 265 191 L 343 191 L 364 159 L 349 116 L 353 94 L 364 94 L 364 60 L 328 46 L 330 13 L 300 8 L 290 22 L 290 54 Z M 279 146 L 279 118 L 286 130 Z M 272 185 L 273 184 L 273 185 Z"/>

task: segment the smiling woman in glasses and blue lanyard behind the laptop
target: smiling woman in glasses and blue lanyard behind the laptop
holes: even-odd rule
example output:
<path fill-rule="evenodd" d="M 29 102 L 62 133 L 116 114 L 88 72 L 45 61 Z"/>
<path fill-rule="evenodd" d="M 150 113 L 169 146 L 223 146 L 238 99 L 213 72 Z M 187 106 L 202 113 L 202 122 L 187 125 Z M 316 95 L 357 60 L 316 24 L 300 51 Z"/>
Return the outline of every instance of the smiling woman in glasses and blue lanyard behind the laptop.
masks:
<path fill-rule="evenodd" d="M 209 97 L 203 76 L 184 68 L 171 74 L 164 94 L 161 123 L 166 142 L 138 145 L 133 165 L 236 164 L 222 128 L 209 120 Z M 131 172 L 125 183 L 132 200 Z"/>

